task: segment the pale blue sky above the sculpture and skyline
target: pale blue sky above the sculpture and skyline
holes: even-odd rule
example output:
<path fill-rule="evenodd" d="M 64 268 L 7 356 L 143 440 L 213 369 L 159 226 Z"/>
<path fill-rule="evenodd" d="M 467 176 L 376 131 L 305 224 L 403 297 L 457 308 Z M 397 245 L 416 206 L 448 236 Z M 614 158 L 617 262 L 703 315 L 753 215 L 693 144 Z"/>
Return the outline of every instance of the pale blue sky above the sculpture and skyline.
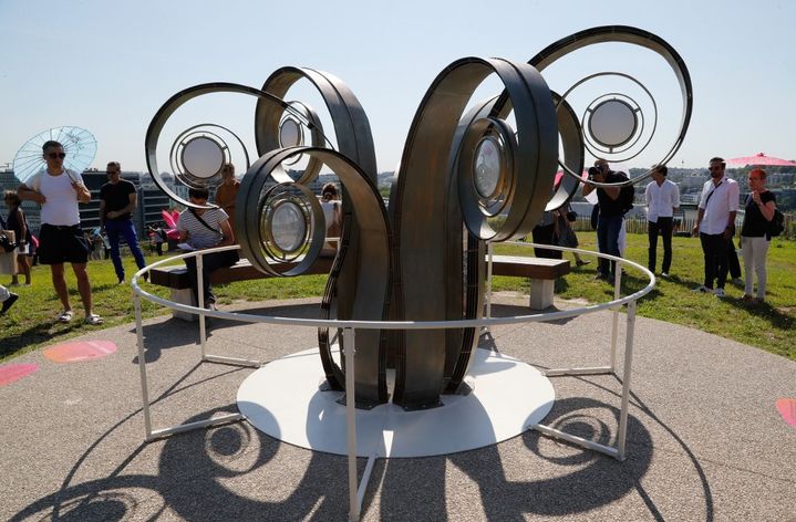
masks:
<path fill-rule="evenodd" d="M 120 160 L 126 170 L 143 170 L 146 128 L 169 96 L 213 81 L 259 87 L 276 69 L 297 65 L 347 82 L 369 115 L 379 169 L 392 170 L 420 101 L 451 62 L 469 55 L 527 61 L 562 36 L 603 24 L 651 31 L 689 66 L 694 114 L 671 166 L 704 166 L 714 155 L 757 152 L 793 159 L 794 6 L 769 0 L 0 0 L 0 168 L 39 132 L 75 125 L 96 136 L 93 166 Z M 544 75 L 560 91 L 567 85 L 557 83 L 559 77 L 634 65 L 639 75 L 650 74 L 651 90 L 672 83 L 671 73 L 654 61 L 608 46 Z M 488 87 L 485 94 L 495 91 Z M 671 145 L 665 122 L 676 123 L 679 108 L 676 93 L 666 88 L 658 98 L 660 143 L 657 135 L 628 166 L 654 163 Z M 251 142 L 254 100 L 219 96 L 203 103 L 186 111 L 180 130 L 218 118 Z M 175 128 L 182 122 L 175 119 Z"/>

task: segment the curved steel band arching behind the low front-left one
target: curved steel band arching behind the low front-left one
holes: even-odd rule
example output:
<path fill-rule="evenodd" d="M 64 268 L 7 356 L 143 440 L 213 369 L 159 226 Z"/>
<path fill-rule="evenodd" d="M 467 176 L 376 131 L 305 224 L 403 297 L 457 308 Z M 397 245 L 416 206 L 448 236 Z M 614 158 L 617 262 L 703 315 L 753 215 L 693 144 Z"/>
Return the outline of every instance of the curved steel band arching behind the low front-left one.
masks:
<path fill-rule="evenodd" d="M 313 69 L 288 66 L 275 71 L 266 80 L 262 85 L 262 91 L 282 98 L 290 87 L 302 79 L 308 80 L 314 85 L 325 103 L 334 125 L 334 135 L 339 152 L 353 160 L 375 186 L 378 170 L 370 122 L 356 96 L 340 79 Z M 279 147 L 278 134 L 280 117 L 281 112 L 269 111 L 269 105 L 266 103 L 257 103 L 255 111 L 255 138 L 260 154 L 263 154 L 267 149 Z M 312 129 L 312 132 L 314 140 L 314 129 Z M 318 167 L 320 167 L 320 165 Z M 312 159 L 307 170 L 309 171 L 311 168 L 313 168 Z M 333 300 L 337 300 L 338 319 L 352 317 L 352 297 L 354 289 L 359 284 L 361 267 L 371 262 L 366 255 L 363 255 L 362 248 L 360 247 L 361 238 L 356 227 L 359 220 L 353 219 L 353 215 L 358 211 L 358 208 L 349 197 L 345 185 L 342 186 L 342 190 L 343 227 L 341 236 L 343 237 L 345 248 L 344 250 L 341 249 L 338 254 L 338 259 L 334 263 L 335 270 L 330 274 L 330 280 L 323 293 L 321 309 L 327 319 L 330 316 Z M 381 303 L 379 303 L 379 305 L 381 305 Z M 339 337 L 342 345 L 342 336 Z M 327 328 L 318 330 L 318 343 L 322 357 L 324 357 L 324 354 L 331 354 L 329 331 Z M 331 361 L 331 356 L 329 356 L 329 361 Z M 324 368 L 330 386 L 333 389 L 343 389 L 342 374 L 331 370 L 327 362 L 324 362 Z M 386 395 L 384 395 L 383 400 L 380 398 L 380 401 L 385 400 Z"/>

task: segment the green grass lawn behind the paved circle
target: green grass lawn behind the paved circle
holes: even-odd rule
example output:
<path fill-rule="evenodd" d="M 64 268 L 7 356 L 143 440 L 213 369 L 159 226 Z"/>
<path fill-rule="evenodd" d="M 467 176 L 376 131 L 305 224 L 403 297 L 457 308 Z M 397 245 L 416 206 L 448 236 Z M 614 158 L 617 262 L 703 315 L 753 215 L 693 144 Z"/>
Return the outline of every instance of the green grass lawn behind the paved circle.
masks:
<path fill-rule="evenodd" d="M 595 232 L 578 232 L 581 248 L 596 249 Z M 692 326 L 705 332 L 757 346 L 762 349 L 796 361 L 796 242 L 775 239 L 768 251 L 768 295 L 761 305 L 741 301 L 743 288 L 727 283 L 727 297 L 694 294 L 691 289 L 702 282 L 702 249 L 697 239 L 674 238 L 672 278 L 658 280 L 653 291 L 641 299 L 638 312 L 671 323 Z M 524 247 L 499 246 L 497 253 L 531 255 Z M 570 258 L 570 254 L 565 254 Z M 659 255 L 662 249 L 659 247 Z M 629 234 L 627 258 L 647 264 L 647 236 Z M 156 258 L 148 257 L 153 260 Z M 570 258 L 571 259 L 571 258 Z M 575 263 L 572 263 L 575 264 Z M 659 262 L 660 264 L 660 262 Z M 556 284 L 556 295 L 564 299 L 583 299 L 589 302 L 604 302 L 613 295 L 612 285 L 593 281 L 596 262 L 575 268 Z M 127 274 L 135 272 L 132 258 L 125 258 Z M 134 320 L 133 300 L 127 285 L 117 285 L 111 261 L 92 261 L 89 265 L 94 288 L 94 311 L 105 319 L 104 326 L 82 324 L 83 309 L 76 293 L 74 275 L 68 268 L 68 284 L 71 291 L 75 320 L 60 324 L 55 317 L 61 304 L 55 297 L 48 267 L 33 268 L 32 286 L 11 289 L 20 300 L 3 316 L 0 316 L 0 361 L 50 345 L 92 330 L 126 324 Z M 0 282 L 8 284 L 10 276 Z M 622 292 L 640 290 L 645 280 L 638 272 L 630 271 L 623 278 Z M 167 297 L 168 291 L 161 286 L 143 283 L 145 289 Z M 292 279 L 266 279 L 219 285 L 216 289 L 219 304 L 232 301 L 263 301 L 270 299 L 307 297 L 320 295 L 325 284 L 323 275 L 308 275 Z M 528 281 L 517 278 L 495 278 L 495 290 L 527 292 Z M 143 302 L 145 317 L 168 313 L 158 305 Z"/>

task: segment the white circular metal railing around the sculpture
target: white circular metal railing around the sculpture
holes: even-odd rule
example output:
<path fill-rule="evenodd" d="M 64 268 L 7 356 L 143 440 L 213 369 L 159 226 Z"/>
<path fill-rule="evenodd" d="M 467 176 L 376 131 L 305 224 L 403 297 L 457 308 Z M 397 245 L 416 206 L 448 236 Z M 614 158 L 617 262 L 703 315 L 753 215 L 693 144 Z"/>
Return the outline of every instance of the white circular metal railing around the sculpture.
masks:
<path fill-rule="evenodd" d="M 619 257 L 603 254 L 599 252 L 595 252 L 591 250 L 581 250 L 581 249 L 573 249 L 573 248 L 567 248 L 567 247 L 558 247 L 552 244 L 537 244 L 537 243 L 528 243 L 528 242 L 521 242 L 521 241 L 513 241 L 513 242 L 505 242 L 503 244 L 517 244 L 528 248 L 534 247 L 541 247 L 548 250 L 559 250 L 564 252 L 577 252 L 582 253 L 586 255 L 595 255 L 597 258 L 602 258 L 607 260 L 614 261 L 617 263 L 616 269 L 616 278 L 613 281 L 614 284 L 614 291 L 613 291 L 613 300 L 600 303 L 600 304 L 593 304 L 588 306 L 581 306 L 577 309 L 571 310 L 561 310 L 556 312 L 547 312 L 547 313 L 534 313 L 534 314 L 527 314 L 527 315 L 514 315 L 514 316 L 506 316 L 506 317 L 492 317 L 492 262 L 493 262 L 493 249 L 492 244 L 489 244 L 489 248 L 487 250 L 487 288 L 486 288 L 486 313 L 487 316 L 483 319 L 474 319 L 474 320 L 458 320 L 458 321 L 356 321 L 356 320 L 321 320 L 321 319 L 299 319 L 299 317 L 286 317 L 286 316 L 271 316 L 271 315 L 254 315 L 254 314 L 247 314 L 247 313 L 239 313 L 239 312 L 224 312 L 219 310 L 205 310 L 204 305 L 204 294 L 201 292 L 203 288 L 203 275 L 201 275 L 201 269 L 203 269 L 203 255 L 207 253 L 213 252 L 221 252 L 225 250 L 235 250 L 240 247 L 238 246 L 231 246 L 231 247 L 219 247 L 215 249 L 208 249 L 208 250 L 198 250 L 194 252 L 188 252 L 185 254 L 175 255 L 162 261 L 156 261 L 155 263 L 152 263 L 148 267 L 145 267 L 138 272 L 133 275 L 133 279 L 131 281 L 131 289 L 133 291 L 133 301 L 135 306 L 135 324 L 136 324 L 136 333 L 137 333 L 137 344 L 138 344 L 138 370 L 141 374 L 141 390 L 142 390 L 142 399 L 144 403 L 144 427 L 146 430 L 146 440 L 151 441 L 159 437 L 164 437 L 172 434 L 188 431 L 193 429 L 198 428 L 205 428 L 209 426 L 215 426 L 224 422 L 230 422 L 235 420 L 242 419 L 241 414 L 228 414 L 219 417 L 214 417 L 210 419 L 205 419 L 196 422 L 188 422 L 177 426 L 172 426 L 168 428 L 161 428 L 161 429 L 153 429 L 152 428 L 152 416 L 149 411 L 149 394 L 148 394 L 148 379 L 146 374 L 146 357 L 144 355 L 145 346 L 144 346 L 144 333 L 143 333 L 143 325 L 142 325 L 142 309 L 141 309 L 141 300 L 146 299 L 147 301 L 162 304 L 163 306 L 173 309 L 173 310 L 179 310 L 182 312 L 196 314 L 199 316 L 199 344 L 201 348 L 201 361 L 203 362 L 217 362 L 217 363 L 226 363 L 226 364 L 239 364 L 244 366 L 252 366 L 252 367 L 259 367 L 260 362 L 258 361 L 250 361 L 250 359 L 242 359 L 242 358 L 236 358 L 236 357 L 226 357 L 226 356 L 219 356 L 219 355 L 211 355 L 207 353 L 207 328 L 206 328 L 206 317 L 218 317 L 218 319 L 226 319 L 230 321 L 239 321 L 245 323 L 267 323 L 267 324 L 275 324 L 275 325 L 286 325 L 286 326 L 299 326 L 299 327 L 325 327 L 325 328 L 341 328 L 343 331 L 343 340 L 344 345 L 347 349 L 344 351 L 344 357 L 345 357 L 345 393 L 347 397 L 351 398 L 354 397 L 354 353 L 355 353 L 355 331 L 356 330 L 430 330 L 430 328 L 488 328 L 490 326 L 497 326 L 497 325 L 507 325 L 507 324 L 519 324 L 519 323 L 536 323 L 536 322 L 547 322 L 547 321 L 556 321 L 561 319 L 568 319 L 568 317 L 576 317 L 579 315 L 583 315 L 587 313 L 595 313 L 600 312 L 603 310 L 611 310 L 613 312 L 612 316 L 612 325 L 611 325 L 611 349 L 610 349 L 610 362 L 608 365 L 601 365 L 601 366 L 586 366 L 586 367 L 575 367 L 575 368 L 554 368 L 554 369 L 547 369 L 545 372 L 546 376 L 565 376 L 565 375 L 598 375 L 598 374 L 616 374 L 617 372 L 617 337 L 619 333 L 619 311 L 623 305 L 628 306 L 627 312 L 627 327 L 626 327 L 626 337 L 624 337 L 624 361 L 622 365 L 622 394 L 621 394 L 621 404 L 620 404 L 620 415 L 619 415 L 619 426 L 617 430 L 617 443 L 613 446 L 607 446 L 599 442 L 595 442 L 593 440 L 585 439 L 582 437 L 577 437 L 570 434 L 567 434 L 565 431 L 558 430 L 556 428 L 542 425 L 542 424 L 535 424 L 531 426 L 527 426 L 526 428 L 536 429 L 537 431 L 545 434 L 549 437 L 559 438 L 562 440 L 567 440 L 569 442 L 576 443 L 578 446 L 581 446 L 583 448 L 592 449 L 596 451 L 600 451 L 602 453 L 609 455 L 618 460 L 624 460 L 626 458 L 626 445 L 627 445 L 627 430 L 628 430 L 628 405 L 630 399 L 630 377 L 631 377 L 631 366 L 632 366 L 632 356 L 633 356 L 633 335 L 634 335 L 634 325 L 635 325 L 635 309 L 637 309 L 637 301 L 647 295 L 655 285 L 655 276 L 652 272 L 650 272 L 645 267 L 642 267 L 641 264 L 638 264 L 633 261 L 629 261 Z M 173 262 L 175 260 L 185 259 L 185 258 L 196 258 L 196 272 L 197 272 L 197 289 L 199 291 L 197 292 L 197 306 L 189 306 L 186 304 L 175 303 L 173 301 L 165 300 L 163 297 L 158 297 L 157 295 L 154 295 L 152 293 L 148 293 L 144 291 L 138 285 L 138 278 L 143 276 L 145 273 L 147 273 L 149 270 L 161 267 L 163 264 Z M 624 297 L 620 296 L 620 289 L 621 289 L 621 281 L 622 281 L 622 265 L 628 264 L 630 267 L 633 267 L 634 269 L 641 271 L 649 278 L 649 283 L 641 290 L 633 292 L 629 295 L 626 295 Z M 351 349 L 348 349 L 348 348 Z M 368 480 L 370 478 L 370 471 L 373 469 L 373 462 L 375 460 L 375 456 L 371 456 L 368 460 L 368 464 L 365 467 L 365 471 L 362 477 L 362 482 L 359 484 L 358 488 L 358 481 L 356 481 L 356 430 L 355 430 L 355 409 L 354 409 L 354 400 L 347 399 L 345 400 L 345 409 L 347 409 L 347 422 L 348 422 L 348 483 L 349 483 L 349 520 L 359 520 L 360 516 L 360 510 L 362 507 L 362 500 L 364 498 L 364 491 L 368 484 Z"/>

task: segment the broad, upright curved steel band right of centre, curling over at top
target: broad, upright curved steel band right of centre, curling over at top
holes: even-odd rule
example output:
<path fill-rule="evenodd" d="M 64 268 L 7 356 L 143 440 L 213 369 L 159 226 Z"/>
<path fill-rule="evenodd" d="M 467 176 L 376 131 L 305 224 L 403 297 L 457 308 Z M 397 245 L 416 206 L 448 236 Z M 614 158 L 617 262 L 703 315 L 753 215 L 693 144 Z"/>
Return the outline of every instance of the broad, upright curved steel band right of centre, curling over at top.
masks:
<path fill-rule="evenodd" d="M 395 199 L 391 201 L 391 206 L 397 206 L 393 226 L 395 271 L 400 278 L 396 304 L 406 320 L 452 320 L 463 317 L 465 311 L 479 311 L 472 303 L 479 300 L 483 289 L 463 288 L 461 215 L 477 209 L 459 209 L 457 181 L 453 178 L 457 169 L 451 154 L 459 145 L 456 139 L 464 134 L 461 129 L 457 133 L 457 127 L 468 100 L 493 73 L 505 85 L 515 107 L 515 159 L 521 174 L 515 178 L 510 196 L 514 205 L 506 225 L 498 231 L 499 238 L 528 233 L 547 202 L 556 173 L 558 129 L 545 81 L 533 66 L 523 63 L 477 58 L 452 63 L 434 81 L 415 114 L 401 160 Z M 473 242 L 468 241 L 468 246 Z M 477 259 L 478 248 L 475 250 L 468 255 L 468 284 L 474 275 L 477 278 L 476 268 L 483 263 L 469 262 L 471 255 Z M 480 251 L 483 255 L 483 248 Z M 463 347 L 461 331 L 451 331 L 447 338 L 442 331 L 409 331 L 404 337 L 396 346 L 399 365 L 393 401 L 405 408 L 435 406 L 440 392 L 449 384 L 445 379 L 463 375 L 462 368 L 469 364 L 469 357 L 463 361 L 459 354 L 463 349 L 472 351 L 472 342 Z M 455 361 L 451 373 L 446 372 L 446 361 Z"/>

